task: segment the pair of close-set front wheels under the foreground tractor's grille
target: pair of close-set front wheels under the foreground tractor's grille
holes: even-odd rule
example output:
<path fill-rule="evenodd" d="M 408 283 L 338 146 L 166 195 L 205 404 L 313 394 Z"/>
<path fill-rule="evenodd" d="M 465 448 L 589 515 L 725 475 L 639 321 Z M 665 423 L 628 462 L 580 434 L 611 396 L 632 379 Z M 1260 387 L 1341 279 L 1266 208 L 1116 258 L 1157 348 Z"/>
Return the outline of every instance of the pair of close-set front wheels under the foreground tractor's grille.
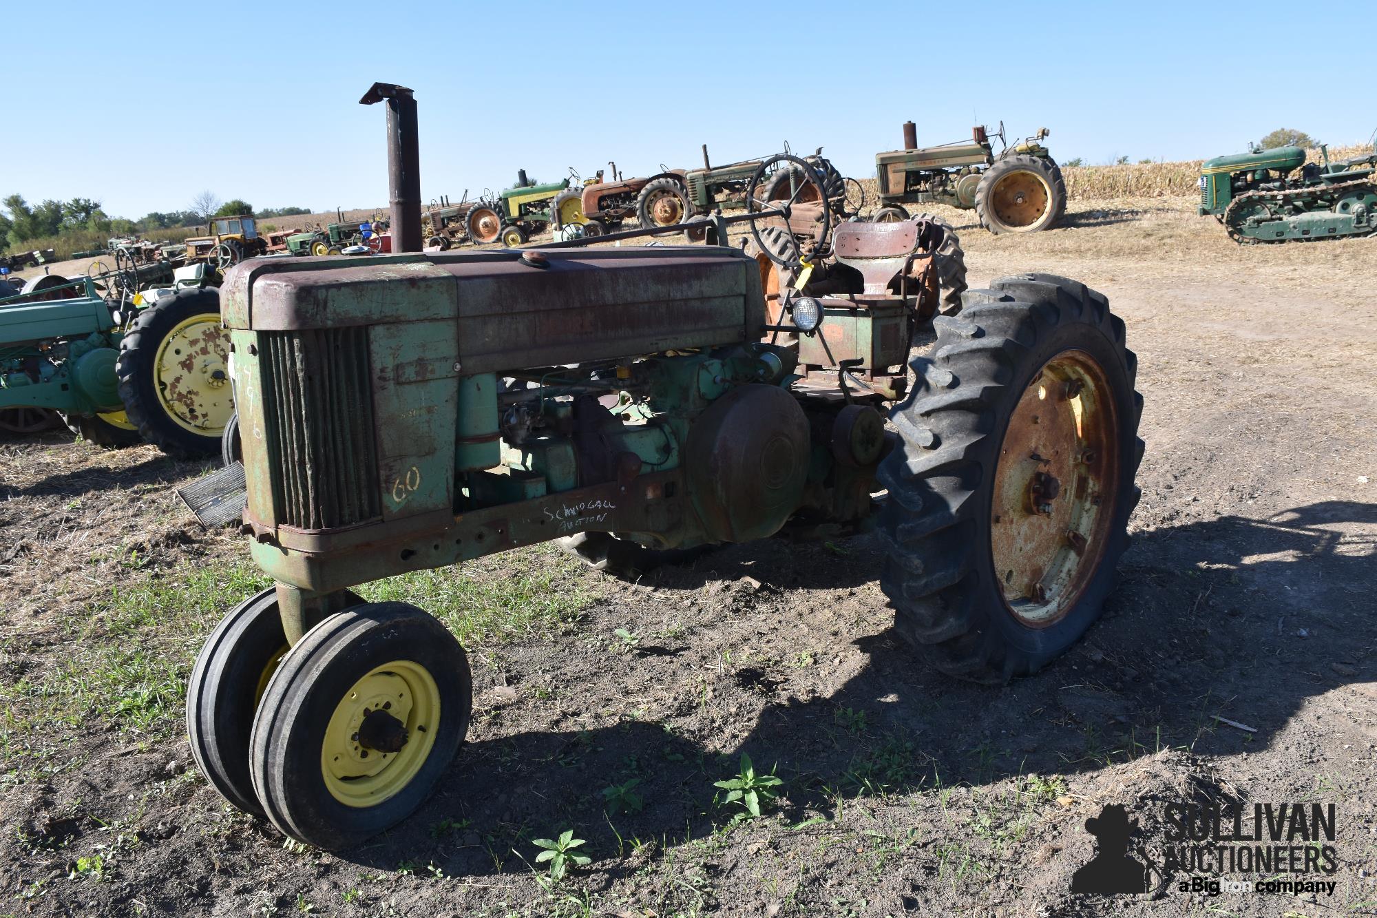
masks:
<path fill-rule="evenodd" d="M 226 799 L 341 849 L 409 816 L 468 732 L 459 641 L 403 602 L 355 602 L 288 646 L 275 590 L 235 606 L 197 657 L 187 732 Z"/>

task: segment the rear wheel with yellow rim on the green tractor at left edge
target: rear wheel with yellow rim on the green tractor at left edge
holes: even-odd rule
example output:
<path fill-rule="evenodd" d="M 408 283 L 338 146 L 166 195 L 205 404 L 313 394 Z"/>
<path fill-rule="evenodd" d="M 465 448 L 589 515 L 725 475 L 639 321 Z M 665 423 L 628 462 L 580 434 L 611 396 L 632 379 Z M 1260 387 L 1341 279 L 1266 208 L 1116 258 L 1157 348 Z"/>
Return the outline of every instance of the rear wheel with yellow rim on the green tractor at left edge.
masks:
<path fill-rule="evenodd" d="M 129 423 L 172 456 L 213 456 L 234 414 L 220 294 L 185 289 L 158 299 L 120 342 L 116 374 Z"/>

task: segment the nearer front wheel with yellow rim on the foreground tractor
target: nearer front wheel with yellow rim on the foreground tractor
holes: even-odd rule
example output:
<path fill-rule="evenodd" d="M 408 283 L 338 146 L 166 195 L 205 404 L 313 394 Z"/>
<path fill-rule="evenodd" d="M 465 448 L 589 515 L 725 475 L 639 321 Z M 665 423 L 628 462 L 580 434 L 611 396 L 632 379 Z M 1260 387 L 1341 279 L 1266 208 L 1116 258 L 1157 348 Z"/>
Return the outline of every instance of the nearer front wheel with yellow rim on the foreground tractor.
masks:
<path fill-rule="evenodd" d="M 253 790 L 286 835 L 348 848 L 425 801 L 471 710 L 468 657 L 435 618 L 405 602 L 346 609 L 273 674 L 249 743 Z"/>

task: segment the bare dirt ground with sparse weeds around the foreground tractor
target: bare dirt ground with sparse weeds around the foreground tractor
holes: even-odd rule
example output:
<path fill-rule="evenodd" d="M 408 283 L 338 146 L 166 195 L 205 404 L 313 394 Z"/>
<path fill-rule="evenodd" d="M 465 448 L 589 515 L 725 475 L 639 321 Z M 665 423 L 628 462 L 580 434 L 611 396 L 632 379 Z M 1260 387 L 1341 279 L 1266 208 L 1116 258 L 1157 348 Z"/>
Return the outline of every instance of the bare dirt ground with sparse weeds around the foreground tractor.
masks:
<path fill-rule="evenodd" d="M 1139 356 L 1135 542 L 1066 656 L 1002 688 L 923 670 L 870 536 L 636 584 L 489 558 L 424 582 L 507 622 L 465 638 L 468 743 L 421 812 L 343 853 L 284 844 L 190 765 L 180 686 L 262 584 L 171 493 L 204 469 L 0 445 L 0 914 L 1371 914 L 1377 243 L 1238 248 L 1191 204 L 1073 203 L 1033 237 L 945 214 L 972 287 L 1085 281 Z M 742 753 L 784 779 L 759 819 L 713 787 Z M 1161 864 L 1166 805 L 1210 801 L 1333 804 L 1333 892 L 1180 892 L 1180 870 L 1070 892 L 1106 804 Z M 543 885 L 532 842 L 565 830 L 592 860 Z"/>

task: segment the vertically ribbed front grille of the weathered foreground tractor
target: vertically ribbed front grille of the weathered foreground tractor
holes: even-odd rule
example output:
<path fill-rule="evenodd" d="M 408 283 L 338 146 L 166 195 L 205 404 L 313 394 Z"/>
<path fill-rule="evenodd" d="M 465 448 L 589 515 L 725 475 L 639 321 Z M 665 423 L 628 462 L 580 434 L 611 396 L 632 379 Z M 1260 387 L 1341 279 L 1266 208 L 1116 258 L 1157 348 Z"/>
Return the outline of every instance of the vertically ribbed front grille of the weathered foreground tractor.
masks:
<path fill-rule="evenodd" d="M 277 522 L 332 529 L 381 517 L 368 328 L 259 332 Z"/>

